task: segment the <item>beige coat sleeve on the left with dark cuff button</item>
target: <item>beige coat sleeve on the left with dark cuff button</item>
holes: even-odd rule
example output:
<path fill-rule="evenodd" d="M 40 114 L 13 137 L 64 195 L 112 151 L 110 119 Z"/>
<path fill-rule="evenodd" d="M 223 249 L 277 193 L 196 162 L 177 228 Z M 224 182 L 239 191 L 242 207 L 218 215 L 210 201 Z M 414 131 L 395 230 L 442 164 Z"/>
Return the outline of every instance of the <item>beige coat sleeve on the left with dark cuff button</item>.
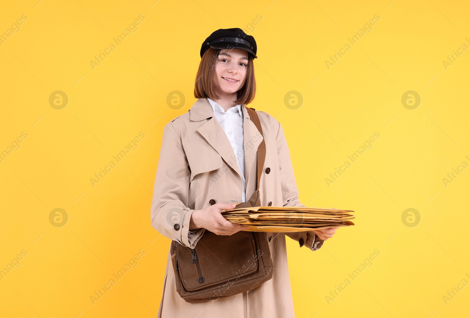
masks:
<path fill-rule="evenodd" d="M 189 221 L 196 211 L 185 205 L 188 202 L 189 177 L 188 159 L 181 137 L 170 122 L 163 130 L 150 222 L 165 237 L 195 248 L 204 229 L 189 232 Z"/>

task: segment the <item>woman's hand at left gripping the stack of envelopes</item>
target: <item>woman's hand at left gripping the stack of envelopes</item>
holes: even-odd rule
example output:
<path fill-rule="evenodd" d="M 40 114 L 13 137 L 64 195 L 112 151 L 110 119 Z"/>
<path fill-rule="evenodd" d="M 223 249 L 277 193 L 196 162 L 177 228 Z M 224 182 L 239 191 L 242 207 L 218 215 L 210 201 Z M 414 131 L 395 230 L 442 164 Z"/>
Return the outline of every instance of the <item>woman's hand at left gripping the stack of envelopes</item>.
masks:
<path fill-rule="evenodd" d="M 217 235 L 232 235 L 238 231 L 248 229 L 246 225 L 228 222 L 220 212 L 230 210 L 235 207 L 235 203 L 216 203 L 202 210 L 196 210 L 191 215 L 189 230 L 204 228 Z"/>

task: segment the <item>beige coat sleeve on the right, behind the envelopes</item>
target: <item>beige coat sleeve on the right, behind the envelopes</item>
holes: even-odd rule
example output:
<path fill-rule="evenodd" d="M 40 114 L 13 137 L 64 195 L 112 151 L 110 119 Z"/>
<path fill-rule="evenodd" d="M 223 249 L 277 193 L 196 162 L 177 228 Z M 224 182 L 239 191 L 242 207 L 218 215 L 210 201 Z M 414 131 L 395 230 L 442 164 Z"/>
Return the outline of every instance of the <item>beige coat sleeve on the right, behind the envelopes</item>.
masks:
<path fill-rule="evenodd" d="M 276 120 L 277 121 L 277 120 Z M 295 181 L 294 169 L 290 160 L 289 147 L 284 136 L 284 130 L 279 122 L 276 135 L 277 157 L 279 159 L 279 170 L 281 173 L 282 205 L 284 207 L 305 207 L 298 199 L 297 183 Z M 285 233 L 288 237 L 299 242 L 300 247 L 307 246 L 316 251 L 323 245 L 323 240 L 313 231 Z"/>

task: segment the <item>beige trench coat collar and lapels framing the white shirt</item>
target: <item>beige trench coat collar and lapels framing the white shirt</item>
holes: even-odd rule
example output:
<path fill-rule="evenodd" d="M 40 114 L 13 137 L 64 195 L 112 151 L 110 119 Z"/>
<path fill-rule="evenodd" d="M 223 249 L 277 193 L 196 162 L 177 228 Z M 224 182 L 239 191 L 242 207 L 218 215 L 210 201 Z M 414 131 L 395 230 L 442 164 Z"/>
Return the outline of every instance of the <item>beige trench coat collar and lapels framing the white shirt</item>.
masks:
<path fill-rule="evenodd" d="M 247 185 L 247 193 L 251 193 L 255 189 L 248 189 L 248 179 L 256 179 L 256 151 L 259 144 L 263 141 L 263 137 L 259 134 L 255 124 L 250 119 L 250 115 L 245 108 L 241 105 L 243 112 L 243 144 L 245 156 L 245 184 Z M 210 119 L 209 119 L 210 118 Z M 235 157 L 235 152 L 232 145 L 227 138 L 219 122 L 214 117 L 211 104 L 207 98 L 198 98 L 189 110 L 189 119 L 192 121 L 202 121 L 201 126 L 197 128 L 199 134 L 219 153 L 222 159 L 227 162 L 227 165 L 235 170 L 240 175 L 240 167 Z M 203 121 L 204 119 L 208 119 Z M 254 164 L 254 165 L 253 165 Z"/>

